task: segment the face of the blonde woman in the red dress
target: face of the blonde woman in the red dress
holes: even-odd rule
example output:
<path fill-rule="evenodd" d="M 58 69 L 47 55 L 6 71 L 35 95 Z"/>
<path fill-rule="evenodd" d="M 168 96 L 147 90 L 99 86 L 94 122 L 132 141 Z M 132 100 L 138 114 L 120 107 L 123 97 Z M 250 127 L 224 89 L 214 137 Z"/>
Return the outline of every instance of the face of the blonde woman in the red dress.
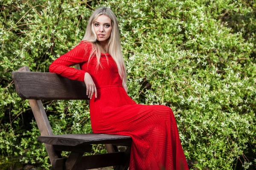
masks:
<path fill-rule="evenodd" d="M 105 43 L 111 35 L 111 19 L 106 15 L 100 15 L 93 23 L 93 28 L 97 34 L 97 40 Z"/>

